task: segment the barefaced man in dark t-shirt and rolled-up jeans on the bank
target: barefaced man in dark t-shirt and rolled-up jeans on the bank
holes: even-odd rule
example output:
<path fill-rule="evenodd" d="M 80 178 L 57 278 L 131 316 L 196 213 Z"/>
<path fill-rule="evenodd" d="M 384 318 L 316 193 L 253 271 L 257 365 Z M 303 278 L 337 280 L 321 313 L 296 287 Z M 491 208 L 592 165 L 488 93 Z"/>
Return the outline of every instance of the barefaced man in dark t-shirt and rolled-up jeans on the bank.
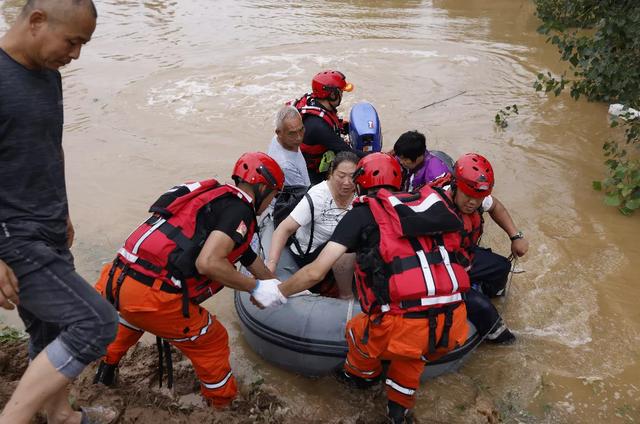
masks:
<path fill-rule="evenodd" d="M 0 38 L 0 260 L 19 289 L 12 295 L 12 280 L 0 276 L 0 304 L 17 304 L 31 359 L 2 424 L 30 422 L 40 408 L 49 422 L 85 422 L 98 413 L 72 410 L 65 388 L 104 353 L 117 315 L 75 272 L 69 251 L 58 72 L 80 56 L 96 19 L 91 0 L 28 0 Z M 99 413 L 105 422 L 116 416 Z"/>

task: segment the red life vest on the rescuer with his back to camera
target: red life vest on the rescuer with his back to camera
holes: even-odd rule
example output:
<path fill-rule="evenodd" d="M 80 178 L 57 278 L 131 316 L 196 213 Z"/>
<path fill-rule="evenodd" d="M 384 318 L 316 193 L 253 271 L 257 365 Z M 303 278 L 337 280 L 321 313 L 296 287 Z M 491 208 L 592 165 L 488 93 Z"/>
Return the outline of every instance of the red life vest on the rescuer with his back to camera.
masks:
<path fill-rule="evenodd" d="M 356 260 L 356 288 L 364 312 L 404 314 L 462 302 L 469 276 L 459 263 L 464 256 L 458 233 L 405 234 L 402 220 L 428 214 L 436 203 L 438 219 L 443 217 L 440 228 L 446 220 L 453 222 L 447 224 L 449 230 L 459 229 L 460 220 L 448 202 L 428 186 L 417 194 L 381 189 L 356 199 L 354 206 L 367 205 L 380 231 L 377 246 L 359 251 Z"/>

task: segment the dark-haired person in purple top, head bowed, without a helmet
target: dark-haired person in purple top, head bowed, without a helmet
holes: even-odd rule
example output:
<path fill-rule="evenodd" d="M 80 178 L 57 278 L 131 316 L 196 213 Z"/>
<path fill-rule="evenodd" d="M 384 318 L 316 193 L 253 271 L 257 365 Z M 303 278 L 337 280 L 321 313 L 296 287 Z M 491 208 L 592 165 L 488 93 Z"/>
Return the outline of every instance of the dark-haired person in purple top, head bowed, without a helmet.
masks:
<path fill-rule="evenodd" d="M 393 151 L 403 167 L 402 189 L 413 191 L 450 172 L 447 164 L 427 149 L 424 134 L 407 131 L 398 137 Z"/>

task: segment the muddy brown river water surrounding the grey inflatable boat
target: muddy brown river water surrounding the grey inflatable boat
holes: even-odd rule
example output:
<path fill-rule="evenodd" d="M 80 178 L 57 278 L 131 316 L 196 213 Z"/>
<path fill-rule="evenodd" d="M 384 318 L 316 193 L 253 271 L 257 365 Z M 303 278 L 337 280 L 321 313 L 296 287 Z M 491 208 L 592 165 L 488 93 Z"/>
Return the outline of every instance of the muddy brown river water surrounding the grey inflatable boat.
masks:
<path fill-rule="evenodd" d="M 21 3 L 0 0 L 0 30 Z M 497 302 L 518 342 L 483 346 L 460 372 L 428 382 L 416 415 L 468 422 L 489 398 L 506 422 L 640 421 L 640 221 L 591 189 L 612 136 L 607 106 L 531 88 L 539 71 L 564 67 L 535 32 L 529 0 L 98 6 L 94 39 L 62 70 L 74 253 L 88 280 L 159 193 L 188 179 L 228 180 L 242 152 L 266 150 L 279 104 L 308 91 L 319 70 L 340 69 L 356 86 L 342 110 L 372 102 L 385 148 L 418 129 L 454 158 L 487 156 L 496 196 L 531 243 L 518 263 L 525 272 Z M 493 117 L 511 104 L 520 114 L 499 131 Z M 508 253 L 493 223 L 484 242 Z M 263 378 L 321 420 L 348 421 L 374 405 L 380 412 L 380 396 L 264 363 L 242 340 L 231 299 L 225 290 L 211 308 L 229 329 L 241 382 Z"/>

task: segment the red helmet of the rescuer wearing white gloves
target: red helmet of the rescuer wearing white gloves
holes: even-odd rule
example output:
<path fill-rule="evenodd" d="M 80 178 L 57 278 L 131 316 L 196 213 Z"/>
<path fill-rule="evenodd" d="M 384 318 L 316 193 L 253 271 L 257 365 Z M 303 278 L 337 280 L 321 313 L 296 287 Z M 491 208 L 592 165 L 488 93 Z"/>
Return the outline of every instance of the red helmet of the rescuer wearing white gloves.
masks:
<path fill-rule="evenodd" d="M 240 156 L 233 167 L 231 178 L 249 184 L 264 184 L 272 190 L 282 190 L 284 173 L 280 165 L 269 155 L 250 152 Z"/>

